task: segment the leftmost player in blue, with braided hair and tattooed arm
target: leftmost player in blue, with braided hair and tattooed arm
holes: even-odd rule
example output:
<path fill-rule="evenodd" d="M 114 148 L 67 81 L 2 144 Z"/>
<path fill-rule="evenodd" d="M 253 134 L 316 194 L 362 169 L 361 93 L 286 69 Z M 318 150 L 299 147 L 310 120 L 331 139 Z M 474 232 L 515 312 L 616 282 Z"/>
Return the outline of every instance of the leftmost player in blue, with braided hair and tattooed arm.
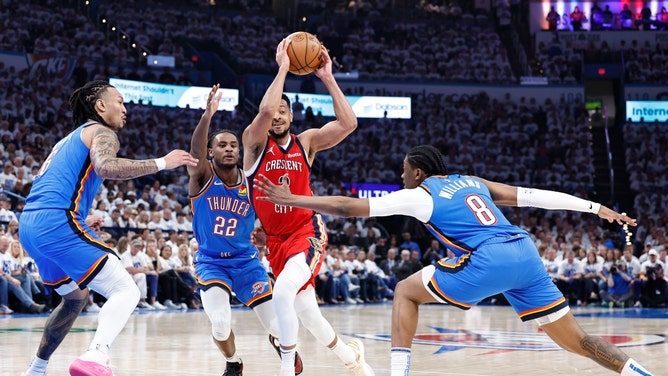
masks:
<path fill-rule="evenodd" d="M 182 165 L 197 165 L 186 151 L 158 159 L 117 157 L 117 132 L 127 111 L 118 90 L 91 81 L 69 98 L 78 127 L 60 140 L 35 176 L 19 222 L 21 243 L 35 259 L 45 284 L 63 299 L 49 316 L 26 376 L 43 376 L 49 358 L 88 302 L 88 290 L 107 298 L 88 351 L 70 365 L 70 375 L 113 375 L 109 348 L 139 302 L 139 289 L 114 250 L 86 221 L 104 179 L 127 180 Z"/>

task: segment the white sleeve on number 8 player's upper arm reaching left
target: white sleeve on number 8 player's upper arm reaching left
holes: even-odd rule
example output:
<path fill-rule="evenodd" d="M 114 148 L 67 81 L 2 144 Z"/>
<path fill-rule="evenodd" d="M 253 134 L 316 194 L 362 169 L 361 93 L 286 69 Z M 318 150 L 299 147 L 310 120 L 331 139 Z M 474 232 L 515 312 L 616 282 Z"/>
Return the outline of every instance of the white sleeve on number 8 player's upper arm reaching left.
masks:
<path fill-rule="evenodd" d="M 422 188 L 401 189 L 381 197 L 369 199 L 370 217 L 408 215 L 426 223 L 431 218 L 434 203 Z"/>

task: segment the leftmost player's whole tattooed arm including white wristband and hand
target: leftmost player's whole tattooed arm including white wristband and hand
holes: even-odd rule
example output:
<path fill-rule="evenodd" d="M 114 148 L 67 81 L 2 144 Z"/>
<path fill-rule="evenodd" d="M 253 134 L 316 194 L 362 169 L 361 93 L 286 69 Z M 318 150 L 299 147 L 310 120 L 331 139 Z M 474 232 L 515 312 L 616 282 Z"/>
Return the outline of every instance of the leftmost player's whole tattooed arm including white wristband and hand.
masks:
<path fill-rule="evenodd" d="M 120 144 L 116 132 L 103 125 L 93 125 L 93 127 L 96 128 L 93 132 L 90 158 L 95 173 L 103 179 L 128 180 L 164 169 L 197 165 L 197 159 L 184 150 L 174 150 L 157 159 L 118 158 L 116 155 Z"/>

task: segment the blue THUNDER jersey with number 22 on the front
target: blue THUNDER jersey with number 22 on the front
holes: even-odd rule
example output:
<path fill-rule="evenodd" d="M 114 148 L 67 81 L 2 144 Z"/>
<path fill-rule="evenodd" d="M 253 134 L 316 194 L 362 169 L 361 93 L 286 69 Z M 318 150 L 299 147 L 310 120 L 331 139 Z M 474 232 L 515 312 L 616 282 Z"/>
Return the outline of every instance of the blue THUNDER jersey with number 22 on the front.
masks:
<path fill-rule="evenodd" d="M 255 228 L 255 210 L 248 196 L 246 176 L 239 169 L 241 183 L 227 186 L 211 163 L 209 168 L 212 178 L 200 193 L 190 198 L 199 253 L 214 259 L 253 255 L 257 249 L 250 244 L 250 234 Z"/>

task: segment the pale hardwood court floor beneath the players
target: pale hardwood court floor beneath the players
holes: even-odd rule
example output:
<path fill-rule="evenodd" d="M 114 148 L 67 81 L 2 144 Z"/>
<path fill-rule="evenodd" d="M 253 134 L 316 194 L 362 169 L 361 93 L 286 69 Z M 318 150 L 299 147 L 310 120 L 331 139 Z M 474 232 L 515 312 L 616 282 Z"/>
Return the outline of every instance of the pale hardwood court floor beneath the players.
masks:
<path fill-rule="evenodd" d="M 654 375 L 668 375 L 668 310 L 575 308 L 582 327 L 624 347 Z M 323 306 L 322 312 L 345 341 L 366 345 L 376 375 L 389 375 L 390 303 Z M 421 307 L 411 375 L 614 375 L 591 360 L 557 348 L 510 307 L 480 306 L 468 312 L 447 306 Z M 279 358 L 267 334 L 247 309 L 234 309 L 237 350 L 244 375 L 278 373 Z M 67 375 L 69 363 L 93 337 L 97 314 L 82 314 L 49 365 L 50 376 Z M 0 375 L 18 376 L 41 338 L 46 315 L 0 317 Z M 338 358 L 300 328 L 302 375 L 350 375 Z M 112 366 L 126 375 L 221 375 L 225 361 L 211 341 L 203 311 L 132 315 L 112 346 Z"/>

